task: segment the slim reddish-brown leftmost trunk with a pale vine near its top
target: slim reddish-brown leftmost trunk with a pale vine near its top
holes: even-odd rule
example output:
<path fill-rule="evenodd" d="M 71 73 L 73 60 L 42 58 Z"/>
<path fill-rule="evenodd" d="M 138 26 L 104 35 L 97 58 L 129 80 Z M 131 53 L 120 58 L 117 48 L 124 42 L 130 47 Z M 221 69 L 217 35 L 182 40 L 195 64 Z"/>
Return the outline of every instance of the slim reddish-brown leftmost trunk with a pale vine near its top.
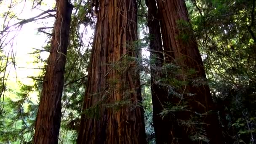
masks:
<path fill-rule="evenodd" d="M 56 21 L 37 112 L 34 144 L 58 143 L 61 123 L 61 95 L 64 86 L 64 68 L 72 9 L 73 5 L 68 0 L 56 0 Z"/>

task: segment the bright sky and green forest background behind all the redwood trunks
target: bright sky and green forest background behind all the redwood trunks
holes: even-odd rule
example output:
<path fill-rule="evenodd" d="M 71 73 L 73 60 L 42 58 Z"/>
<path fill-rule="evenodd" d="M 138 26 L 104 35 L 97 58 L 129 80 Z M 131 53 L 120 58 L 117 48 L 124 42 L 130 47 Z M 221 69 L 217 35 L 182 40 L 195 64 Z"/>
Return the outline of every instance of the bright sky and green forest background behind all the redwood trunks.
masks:
<path fill-rule="evenodd" d="M 59 143 L 76 143 L 96 14 L 91 1 L 71 0 L 74 5 L 61 99 Z M 0 143 L 30 143 L 35 132 L 40 94 L 51 48 L 56 7 L 53 0 L 0 1 Z M 255 0 L 186 0 L 192 26 L 227 144 L 255 144 L 256 138 L 256 26 Z M 151 97 L 149 43 L 152 40 L 145 0 L 137 3 L 141 49 L 140 82 L 147 142 L 155 144 Z M 189 25 L 189 26 L 188 26 Z M 186 41 L 189 34 L 181 35 Z M 170 71 L 179 67 L 169 65 Z M 193 72 L 191 72 L 193 73 Z M 174 86 L 183 85 L 172 78 Z M 201 84 L 204 82 L 201 82 Z M 206 84 L 207 85 L 207 84 Z M 171 85 L 172 86 L 172 85 Z M 173 94 L 173 93 L 172 93 Z M 166 104 L 165 116 L 184 107 Z M 186 123 L 198 127 L 196 118 Z M 207 142 L 207 137 L 198 139 Z"/>

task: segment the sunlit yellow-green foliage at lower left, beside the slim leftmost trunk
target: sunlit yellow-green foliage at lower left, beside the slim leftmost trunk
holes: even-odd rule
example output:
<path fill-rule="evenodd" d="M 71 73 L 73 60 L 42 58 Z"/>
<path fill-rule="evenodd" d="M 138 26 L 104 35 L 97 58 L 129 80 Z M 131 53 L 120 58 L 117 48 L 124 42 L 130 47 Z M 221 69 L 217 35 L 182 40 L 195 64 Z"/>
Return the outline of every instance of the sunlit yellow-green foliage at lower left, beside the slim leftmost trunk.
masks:
<path fill-rule="evenodd" d="M 37 91 L 34 86 L 21 85 L 20 92 L 12 91 L 16 96 L 16 100 L 6 98 L 4 105 L 8 106 L 4 109 L 0 120 L 1 132 L 0 141 L 24 143 L 32 141 L 35 117 L 37 114 L 37 104 L 31 100 L 29 94 Z"/>

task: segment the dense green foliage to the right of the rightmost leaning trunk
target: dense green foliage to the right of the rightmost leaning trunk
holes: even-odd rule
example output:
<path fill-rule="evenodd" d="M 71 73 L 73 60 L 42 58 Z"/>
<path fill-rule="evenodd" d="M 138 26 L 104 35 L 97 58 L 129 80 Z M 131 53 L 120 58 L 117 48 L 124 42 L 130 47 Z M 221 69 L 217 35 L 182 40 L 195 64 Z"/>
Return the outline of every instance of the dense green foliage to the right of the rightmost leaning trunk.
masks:
<path fill-rule="evenodd" d="M 192 26 L 219 108 L 225 141 L 253 144 L 255 126 L 255 1 L 191 0 Z"/>

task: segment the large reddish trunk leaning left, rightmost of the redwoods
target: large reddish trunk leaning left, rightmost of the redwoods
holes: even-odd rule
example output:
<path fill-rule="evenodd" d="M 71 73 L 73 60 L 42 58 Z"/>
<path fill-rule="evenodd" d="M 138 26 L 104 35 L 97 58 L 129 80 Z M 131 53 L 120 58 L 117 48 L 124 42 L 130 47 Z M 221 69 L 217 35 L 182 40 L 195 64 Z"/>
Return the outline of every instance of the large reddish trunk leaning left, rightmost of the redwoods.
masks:
<path fill-rule="evenodd" d="M 169 116 L 170 123 L 168 126 L 162 126 L 162 131 L 158 133 L 156 131 L 156 136 L 167 135 L 165 132 L 168 131 L 171 139 L 162 137 L 158 144 L 202 143 L 207 141 L 204 136 L 210 140 L 211 144 L 221 144 L 221 128 L 217 113 L 213 112 L 213 100 L 209 87 L 205 84 L 203 61 L 189 24 L 186 4 L 184 0 L 157 0 L 157 6 L 161 19 L 165 62 L 169 64 L 166 73 L 171 73 L 168 75 L 170 79 L 173 77 L 176 79 L 171 79 L 173 81 L 169 83 L 169 93 L 171 93 L 169 100 L 160 103 L 170 102 L 175 106 L 172 108 L 176 108 L 172 110 L 180 109 L 178 112 L 172 111 L 169 115 L 165 115 L 165 117 Z M 179 67 L 176 73 L 169 69 L 174 67 L 173 65 Z M 182 106 L 186 106 L 186 110 Z M 154 123 L 162 122 L 154 121 Z"/>

